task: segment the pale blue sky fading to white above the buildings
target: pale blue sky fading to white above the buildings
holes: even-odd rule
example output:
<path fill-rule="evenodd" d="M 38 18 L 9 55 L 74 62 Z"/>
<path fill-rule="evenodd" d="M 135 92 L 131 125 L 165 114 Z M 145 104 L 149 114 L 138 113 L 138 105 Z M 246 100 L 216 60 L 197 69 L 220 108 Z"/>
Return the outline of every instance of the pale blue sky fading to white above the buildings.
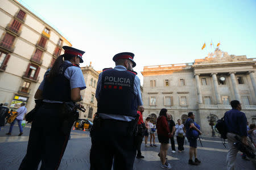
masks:
<path fill-rule="evenodd" d="M 115 54 L 134 53 L 142 84 L 144 66 L 191 63 L 207 57 L 218 42 L 228 54 L 256 58 L 255 0 L 19 2 L 85 51 L 81 66 L 91 61 L 102 70 L 114 67 Z"/>

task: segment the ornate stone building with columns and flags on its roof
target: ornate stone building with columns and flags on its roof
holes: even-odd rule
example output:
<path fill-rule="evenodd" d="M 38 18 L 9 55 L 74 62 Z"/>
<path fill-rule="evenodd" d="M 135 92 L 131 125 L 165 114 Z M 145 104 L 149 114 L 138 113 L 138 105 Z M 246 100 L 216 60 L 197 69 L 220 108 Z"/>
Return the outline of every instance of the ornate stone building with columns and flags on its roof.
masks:
<path fill-rule="evenodd" d="M 255 123 L 255 63 L 254 58 L 216 49 L 193 63 L 144 66 L 143 118 L 167 108 L 175 122 L 184 122 L 192 111 L 203 132 L 210 134 L 209 122 L 223 117 L 230 101 L 239 100 L 249 123 Z"/>

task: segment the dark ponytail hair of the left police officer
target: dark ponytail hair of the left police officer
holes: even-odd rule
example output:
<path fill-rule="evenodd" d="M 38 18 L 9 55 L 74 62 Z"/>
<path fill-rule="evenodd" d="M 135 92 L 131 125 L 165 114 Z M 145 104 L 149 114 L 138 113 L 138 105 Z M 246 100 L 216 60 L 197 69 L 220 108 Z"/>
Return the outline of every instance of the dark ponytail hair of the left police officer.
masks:
<path fill-rule="evenodd" d="M 56 58 L 55 62 L 53 63 L 53 66 L 50 70 L 50 73 L 49 73 L 49 81 L 51 82 L 51 80 L 53 78 L 55 78 L 55 76 L 57 76 L 57 74 L 59 73 L 59 69 L 60 69 L 60 65 L 63 64 L 63 58 L 64 60 L 71 60 L 73 57 L 73 55 L 69 55 L 69 54 L 63 54 L 63 55 L 60 55 L 59 57 Z"/>

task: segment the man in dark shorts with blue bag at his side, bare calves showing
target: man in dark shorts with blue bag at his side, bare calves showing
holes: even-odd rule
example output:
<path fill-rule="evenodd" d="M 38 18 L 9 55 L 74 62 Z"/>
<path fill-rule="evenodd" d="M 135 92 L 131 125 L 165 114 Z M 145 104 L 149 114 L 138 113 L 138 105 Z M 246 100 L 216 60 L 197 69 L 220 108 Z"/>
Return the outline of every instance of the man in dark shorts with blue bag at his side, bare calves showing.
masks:
<path fill-rule="evenodd" d="M 200 126 L 196 124 L 194 121 L 195 114 L 193 112 L 188 113 L 188 118 L 185 122 L 185 129 L 186 129 L 186 137 L 188 138 L 189 142 L 189 160 L 188 164 L 191 165 L 199 165 L 201 161 L 197 159 L 197 138 L 201 135 Z M 192 158 L 193 155 L 195 157 L 195 162 L 193 162 Z"/>

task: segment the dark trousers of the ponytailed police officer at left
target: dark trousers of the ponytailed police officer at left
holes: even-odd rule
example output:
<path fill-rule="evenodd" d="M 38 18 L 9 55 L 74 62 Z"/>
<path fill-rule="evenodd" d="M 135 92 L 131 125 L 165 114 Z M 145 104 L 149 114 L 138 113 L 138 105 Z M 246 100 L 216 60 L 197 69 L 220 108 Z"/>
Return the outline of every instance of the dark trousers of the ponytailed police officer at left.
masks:
<path fill-rule="evenodd" d="M 62 104 L 43 104 L 32 121 L 27 153 L 19 169 L 38 169 L 40 161 L 43 169 L 58 169 L 69 134 L 62 131 L 60 118 Z M 70 131 L 69 131 L 70 133 Z"/>

